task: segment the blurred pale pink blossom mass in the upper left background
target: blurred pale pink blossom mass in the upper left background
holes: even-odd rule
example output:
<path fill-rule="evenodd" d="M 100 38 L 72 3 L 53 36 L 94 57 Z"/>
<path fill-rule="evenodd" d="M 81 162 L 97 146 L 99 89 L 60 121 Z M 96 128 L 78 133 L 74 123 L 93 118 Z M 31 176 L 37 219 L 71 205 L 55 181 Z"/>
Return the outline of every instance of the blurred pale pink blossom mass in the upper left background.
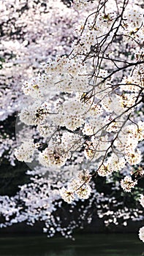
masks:
<path fill-rule="evenodd" d="M 1 121 L 20 110 L 23 81 L 37 74 L 40 63 L 69 53 L 73 27 L 86 15 L 61 0 L 1 0 Z"/>

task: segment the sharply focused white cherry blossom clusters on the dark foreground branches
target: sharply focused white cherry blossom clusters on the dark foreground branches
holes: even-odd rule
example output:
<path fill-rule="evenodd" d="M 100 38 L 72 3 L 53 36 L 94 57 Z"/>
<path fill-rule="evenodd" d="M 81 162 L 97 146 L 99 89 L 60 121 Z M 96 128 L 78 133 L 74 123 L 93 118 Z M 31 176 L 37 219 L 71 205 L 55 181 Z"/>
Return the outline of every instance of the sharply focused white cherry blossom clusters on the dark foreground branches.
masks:
<path fill-rule="evenodd" d="M 121 4 L 120 1 L 120 8 Z M 139 61 L 135 53 L 135 62 L 127 62 L 128 68 L 135 67 L 134 70 L 128 69 L 128 78 L 122 77 L 118 81 L 114 74 L 124 67 L 115 64 L 117 69 L 110 73 L 105 64 L 110 50 L 116 48 L 115 34 L 119 31 L 126 37 L 129 19 L 132 20 L 134 16 L 132 26 L 142 26 L 142 10 L 139 11 L 135 7 L 137 10 L 134 9 L 130 13 L 129 4 L 126 5 L 125 2 L 123 7 L 121 15 L 118 7 L 114 7 L 113 15 L 110 12 L 107 17 L 102 12 L 98 15 L 94 12 L 87 23 L 77 31 L 78 39 L 73 43 L 69 57 L 56 56 L 54 61 L 48 59 L 47 63 L 42 64 L 42 74 L 23 84 L 23 92 L 31 96 L 32 103 L 21 110 L 20 121 L 37 126 L 45 141 L 48 132 L 51 135 L 48 147 L 39 152 L 41 165 L 63 167 L 67 165 L 75 150 L 83 151 L 83 158 L 90 165 L 91 162 L 97 162 L 96 173 L 99 176 L 111 175 L 113 171 L 123 169 L 126 164 L 140 164 L 142 156 L 137 145 L 144 137 L 144 123 L 141 120 L 135 122 L 133 113 L 134 107 L 143 101 L 140 98 L 143 91 L 143 51 L 139 46 Z M 106 3 L 105 8 L 108 12 Z M 129 18 L 126 18 L 126 15 Z M 105 28 L 109 33 L 104 34 Z M 133 39 L 129 45 L 131 43 L 134 43 Z M 96 47 L 104 51 L 103 56 L 101 50 L 95 56 L 91 50 L 93 45 L 94 52 Z M 99 59 L 101 66 L 97 69 Z M 107 59 L 110 62 L 113 57 Z M 125 59 L 117 62 L 124 63 Z M 132 94 L 127 92 L 129 89 Z M 137 102 L 139 98 L 140 102 Z M 75 149 L 73 144 L 70 148 L 65 146 L 63 136 L 66 136 L 69 144 L 72 143 L 73 136 L 77 148 Z M 130 192 L 136 184 L 137 181 L 132 181 L 130 176 L 121 180 L 121 187 L 126 192 Z M 73 193 L 67 191 L 69 188 L 63 188 L 61 193 L 68 193 L 71 199 L 67 200 L 71 202 Z"/>

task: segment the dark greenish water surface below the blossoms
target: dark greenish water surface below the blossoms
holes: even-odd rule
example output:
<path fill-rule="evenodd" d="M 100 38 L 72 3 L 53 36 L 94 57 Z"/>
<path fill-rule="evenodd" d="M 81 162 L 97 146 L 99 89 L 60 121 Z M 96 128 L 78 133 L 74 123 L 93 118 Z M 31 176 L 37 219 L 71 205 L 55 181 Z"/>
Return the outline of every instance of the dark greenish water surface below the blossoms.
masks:
<path fill-rule="evenodd" d="M 137 234 L 76 235 L 75 241 L 46 236 L 0 237 L 0 256 L 144 256 Z"/>

